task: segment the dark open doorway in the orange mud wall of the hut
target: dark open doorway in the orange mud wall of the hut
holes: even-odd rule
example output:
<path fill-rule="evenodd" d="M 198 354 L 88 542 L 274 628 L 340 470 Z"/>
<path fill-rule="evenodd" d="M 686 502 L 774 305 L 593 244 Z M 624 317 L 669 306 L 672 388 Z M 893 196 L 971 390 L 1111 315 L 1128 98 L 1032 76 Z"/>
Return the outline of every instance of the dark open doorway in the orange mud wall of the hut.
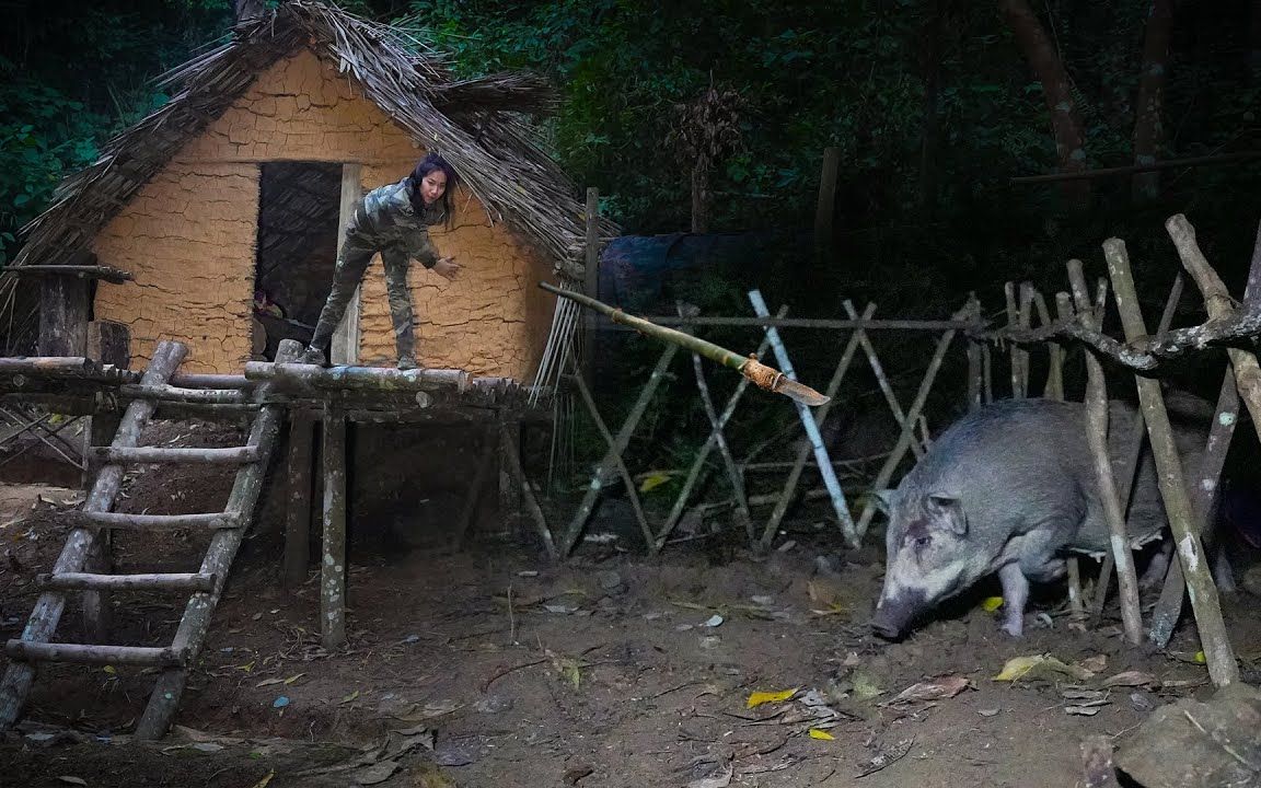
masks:
<path fill-rule="evenodd" d="M 342 165 L 269 161 L 259 187 L 253 356 L 271 361 L 281 339 L 310 340 L 337 265 Z"/>

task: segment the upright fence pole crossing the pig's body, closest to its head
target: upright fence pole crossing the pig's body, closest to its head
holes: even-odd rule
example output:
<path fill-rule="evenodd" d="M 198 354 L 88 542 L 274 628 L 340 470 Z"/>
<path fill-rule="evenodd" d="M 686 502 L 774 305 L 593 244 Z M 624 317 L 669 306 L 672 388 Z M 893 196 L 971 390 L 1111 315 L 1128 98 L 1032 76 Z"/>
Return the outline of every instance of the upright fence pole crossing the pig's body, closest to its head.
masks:
<path fill-rule="evenodd" d="M 1068 261 L 1068 279 L 1077 300 L 1078 319 L 1086 328 L 1098 330 L 1103 323 L 1103 310 L 1093 309 L 1086 293 L 1086 277 L 1079 260 Z M 1117 299 L 1120 301 L 1120 299 Z M 1086 439 L 1095 460 L 1095 479 L 1100 503 L 1112 535 L 1112 564 L 1116 567 L 1121 590 L 1121 625 L 1131 644 L 1142 642 L 1142 613 L 1139 609 L 1139 580 L 1134 571 L 1134 553 L 1125 524 L 1124 499 L 1116 488 L 1112 460 L 1108 455 L 1108 400 L 1103 367 L 1093 354 L 1086 354 Z"/>

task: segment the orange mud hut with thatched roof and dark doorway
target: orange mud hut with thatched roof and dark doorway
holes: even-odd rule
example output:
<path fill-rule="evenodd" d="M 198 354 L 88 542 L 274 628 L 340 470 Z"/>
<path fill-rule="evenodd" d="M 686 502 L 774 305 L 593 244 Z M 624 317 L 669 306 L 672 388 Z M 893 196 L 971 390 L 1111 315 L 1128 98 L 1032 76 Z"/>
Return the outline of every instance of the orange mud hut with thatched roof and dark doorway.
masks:
<path fill-rule="evenodd" d="M 554 102 L 540 79 L 460 81 L 406 30 L 295 1 L 238 24 L 160 84 L 170 101 L 62 184 L 10 269 L 87 261 L 131 279 L 4 277 L 44 282 L 44 334 L 48 315 L 68 313 L 57 354 L 83 354 L 92 322 L 126 327 L 135 366 L 160 339 L 187 343 L 192 372 L 235 372 L 285 337 L 309 338 L 353 202 L 438 150 L 459 187 L 451 228 L 433 237 L 463 270 L 449 282 L 411 269 L 420 361 L 531 374 L 554 309 L 536 282 L 580 281 L 586 233 L 574 184 L 531 139 L 528 116 Z M 601 237 L 614 233 L 601 223 Z M 393 353 L 377 260 L 334 362 Z"/>

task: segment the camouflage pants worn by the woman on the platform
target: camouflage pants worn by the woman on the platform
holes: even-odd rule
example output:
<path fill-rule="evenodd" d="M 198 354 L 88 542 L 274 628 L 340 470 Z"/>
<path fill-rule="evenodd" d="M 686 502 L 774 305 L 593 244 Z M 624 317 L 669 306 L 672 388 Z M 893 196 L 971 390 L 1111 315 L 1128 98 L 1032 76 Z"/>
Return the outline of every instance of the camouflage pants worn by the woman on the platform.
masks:
<path fill-rule="evenodd" d="M 386 269 L 386 293 L 390 296 L 390 319 L 395 329 L 395 347 L 398 349 L 398 358 L 415 357 L 416 330 L 412 327 L 411 294 L 407 291 L 407 255 L 396 247 L 388 246 L 377 250 L 366 246 L 352 236 L 342 245 L 342 253 L 337 257 L 337 269 L 333 272 L 333 289 L 324 301 L 324 309 L 319 314 L 319 323 L 311 335 L 311 347 L 328 352 L 329 340 L 337 329 L 342 316 L 346 315 L 346 306 L 354 295 L 354 289 L 363 279 L 363 272 L 368 270 L 372 256 L 380 251 L 381 262 Z"/>

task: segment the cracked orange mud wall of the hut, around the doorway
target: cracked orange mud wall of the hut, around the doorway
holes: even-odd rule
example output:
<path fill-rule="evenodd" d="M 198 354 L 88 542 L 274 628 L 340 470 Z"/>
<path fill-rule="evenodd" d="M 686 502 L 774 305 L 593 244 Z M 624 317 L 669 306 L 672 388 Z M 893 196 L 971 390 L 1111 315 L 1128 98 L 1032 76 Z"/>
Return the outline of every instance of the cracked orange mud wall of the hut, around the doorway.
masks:
<path fill-rule="evenodd" d="M 102 265 L 135 275 L 101 282 L 95 318 L 131 328 L 132 366 L 160 339 L 189 345 L 192 372 L 237 372 L 250 359 L 259 216 L 265 161 L 356 161 L 362 189 L 396 182 L 425 154 L 346 74 L 303 49 L 259 76 L 217 120 L 98 233 Z M 522 184 L 528 188 L 528 184 Z M 453 228 L 435 227 L 439 253 L 454 256 L 450 282 L 411 266 L 417 357 L 429 367 L 527 380 L 542 352 L 551 266 L 485 208 L 456 189 Z M 392 364 L 393 329 L 380 258 L 364 277 L 359 361 Z"/>

